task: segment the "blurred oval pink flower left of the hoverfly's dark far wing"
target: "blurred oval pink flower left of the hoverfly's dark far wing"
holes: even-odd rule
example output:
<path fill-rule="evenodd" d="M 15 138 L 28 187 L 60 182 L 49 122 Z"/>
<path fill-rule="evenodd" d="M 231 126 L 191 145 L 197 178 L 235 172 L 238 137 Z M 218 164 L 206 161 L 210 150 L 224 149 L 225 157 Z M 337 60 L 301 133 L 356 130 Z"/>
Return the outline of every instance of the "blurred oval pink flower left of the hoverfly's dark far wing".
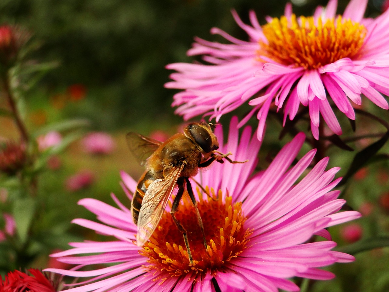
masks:
<path fill-rule="evenodd" d="M 82 139 L 84 150 L 92 154 L 109 154 L 115 148 L 112 137 L 104 132 L 92 132 Z"/>

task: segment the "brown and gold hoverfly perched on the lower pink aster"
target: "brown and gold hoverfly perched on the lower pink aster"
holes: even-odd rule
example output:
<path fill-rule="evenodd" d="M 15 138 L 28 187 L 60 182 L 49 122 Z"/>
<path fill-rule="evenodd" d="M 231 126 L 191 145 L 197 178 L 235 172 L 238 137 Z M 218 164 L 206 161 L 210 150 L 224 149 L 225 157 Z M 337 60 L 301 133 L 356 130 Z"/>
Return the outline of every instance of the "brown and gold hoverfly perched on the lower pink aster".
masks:
<path fill-rule="evenodd" d="M 219 148 L 219 143 L 216 135 L 212 132 L 213 128 L 212 123 L 191 123 L 184 128 L 184 134 L 175 134 L 165 142 L 159 142 L 133 132 L 127 134 L 130 150 L 138 162 L 146 167 L 138 181 L 131 202 L 133 220 L 138 226 L 138 246 L 143 246 L 153 234 L 165 211 L 170 195 L 177 185 L 178 191 L 173 200 L 170 214 L 184 236 L 190 264 L 193 265 L 193 257 L 189 248 L 187 232 L 175 217 L 185 186 L 195 207 L 205 250 L 207 250 L 204 227 L 189 178 L 197 174 L 199 167 L 207 167 L 215 160 L 220 163 L 224 162 L 223 158 L 230 163 L 245 162 L 231 160 L 228 157 L 231 153 L 222 154 L 216 151 Z"/>

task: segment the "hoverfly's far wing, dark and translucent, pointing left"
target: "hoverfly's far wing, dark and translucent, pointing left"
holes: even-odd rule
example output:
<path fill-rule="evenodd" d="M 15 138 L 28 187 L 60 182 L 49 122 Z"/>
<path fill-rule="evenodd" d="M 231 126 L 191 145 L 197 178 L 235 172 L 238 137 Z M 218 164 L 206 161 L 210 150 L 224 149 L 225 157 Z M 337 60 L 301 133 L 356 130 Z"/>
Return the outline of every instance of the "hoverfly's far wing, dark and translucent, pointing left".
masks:
<path fill-rule="evenodd" d="M 161 141 L 145 137 L 134 132 L 128 133 L 126 135 L 126 140 L 128 147 L 135 156 L 135 159 L 142 166 L 145 165 L 147 158 L 149 158 L 150 155 L 162 144 Z"/>

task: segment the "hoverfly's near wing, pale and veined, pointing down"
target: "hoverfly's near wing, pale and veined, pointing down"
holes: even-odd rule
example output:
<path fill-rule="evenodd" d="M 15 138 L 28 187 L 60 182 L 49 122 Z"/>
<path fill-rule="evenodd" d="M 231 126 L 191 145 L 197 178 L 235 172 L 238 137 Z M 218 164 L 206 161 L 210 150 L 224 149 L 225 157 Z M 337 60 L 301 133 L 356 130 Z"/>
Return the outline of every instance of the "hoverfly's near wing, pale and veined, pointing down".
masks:
<path fill-rule="evenodd" d="M 182 169 L 184 165 L 175 168 L 164 179 L 156 179 L 147 188 L 138 217 L 138 246 L 143 246 L 157 228 Z"/>

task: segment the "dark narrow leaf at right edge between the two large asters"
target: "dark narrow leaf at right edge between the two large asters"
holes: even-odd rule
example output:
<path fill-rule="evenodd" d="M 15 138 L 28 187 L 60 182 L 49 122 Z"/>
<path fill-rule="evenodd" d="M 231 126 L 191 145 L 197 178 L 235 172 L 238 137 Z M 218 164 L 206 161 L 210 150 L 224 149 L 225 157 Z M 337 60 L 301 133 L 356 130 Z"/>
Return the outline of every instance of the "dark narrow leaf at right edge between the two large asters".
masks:
<path fill-rule="evenodd" d="M 343 179 L 340 181 L 338 186 L 344 185 L 350 177 L 352 177 L 359 169 L 361 169 L 361 167 L 366 164 L 366 162 L 368 162 L 368 160 L 370 160 L 370 158 L 374 157 L 378 150 L 380 150 L 382 146 L 384 146 L 388 139 L 389 131 L 386 132 L 381 137 L 381 139 L 359 151 L 355 155 L 354 159 L 351 162 L 349 170 L 347 171 L 345 176 L 343 176 Z"/>

